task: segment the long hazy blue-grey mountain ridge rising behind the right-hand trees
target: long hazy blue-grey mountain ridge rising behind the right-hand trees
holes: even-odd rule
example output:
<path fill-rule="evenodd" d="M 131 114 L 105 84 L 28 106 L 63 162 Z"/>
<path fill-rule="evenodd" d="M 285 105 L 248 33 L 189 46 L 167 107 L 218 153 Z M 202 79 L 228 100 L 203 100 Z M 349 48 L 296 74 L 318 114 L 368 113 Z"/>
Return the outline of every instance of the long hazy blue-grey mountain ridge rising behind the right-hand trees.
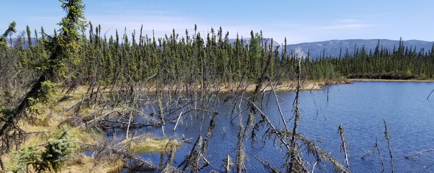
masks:
<path fill-rule="evenodd" d="M 339 56 L 339 51 L 342 48 L 342 54 L 345 54 L 346 49 L 351 53 L 354 51 L 354 45 L 357 47 L 362 47 L 365 45 L 366 50 L 369 52 L 370 49 L 374 51 L 375 46 L 377 46 L 378 39 L 348 39 L 348 40 L 329 40 L 323 42 L 310 42 L 310 43 L 299 43 L 294 45 L 286 45 L 286 53 L 290 53 L 291 49 L 294 50 L 294 53 L 299 54 L 307 54 L 310 48 L 310 56 L 312 58 L 322 54 L 324 51 L 325 54 L 331 54 L 332 56 Z M 421 48 L 424 48 L 424 51 L 427 52 L 431 50 L 434 42 L 426 42 L 421 40 L 407 40 L 404 41 L 404 46 L 408 46 L 414 49 L 416 46 L 416 51 L 420 51 Z M 380 48 L 383 46 L 384 48 L 391 48 L 396 45 L 398 48 L 399 40 L 388 40 L 388 39 L 380 39 Z M 282 51 L 281 48 L 279 48 Z"/>

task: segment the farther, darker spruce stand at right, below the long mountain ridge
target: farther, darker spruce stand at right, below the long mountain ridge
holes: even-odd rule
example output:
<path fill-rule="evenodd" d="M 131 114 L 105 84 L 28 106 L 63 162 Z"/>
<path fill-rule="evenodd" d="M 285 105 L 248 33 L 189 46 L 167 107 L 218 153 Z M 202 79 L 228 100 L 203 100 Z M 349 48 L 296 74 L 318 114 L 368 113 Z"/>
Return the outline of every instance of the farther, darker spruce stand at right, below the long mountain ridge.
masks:
<path fill-rule="evenodd" d="M 309 61 L 309 58 L 306 58 L 306 61 Z M 321 79 L 326 68 L 334 68 L 339 75 L 349 78 L 434 78 L 434 44 L 431 50 L 418 50 L 415 46 L 404 46 L 404 41 L 400 38 L 398 48 L 395 46 L 390 49 L 380 47 L 378 40 L 375 50 L 367 50 L 365 45 L 355 45 L 351 52 L 348 48 L 343 52 L 341 48 L 339 57 L 326 56 L 323 53 L 311 64 L 309 76 L 313 79 Z"/>

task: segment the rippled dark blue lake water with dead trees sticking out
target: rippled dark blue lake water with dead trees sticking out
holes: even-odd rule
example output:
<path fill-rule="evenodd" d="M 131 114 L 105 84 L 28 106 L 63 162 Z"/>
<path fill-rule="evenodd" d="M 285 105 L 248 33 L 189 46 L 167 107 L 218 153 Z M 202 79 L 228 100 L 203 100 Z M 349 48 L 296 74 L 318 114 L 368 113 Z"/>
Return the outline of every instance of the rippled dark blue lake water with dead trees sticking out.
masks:
<path fill-rule="evenodd" d="M 361 156 L 369 151 L 376 151 L 375 138 L 378 137 L 378 146 L 385 164 L 385 172 L 391 172 L 388 144 L 384 137 L 385 125 L 387 122 L 391 151 L 395 172 L 434 172 L 434 151 L 423 153 L 409 159 L 405 156 L 419 151 L 434 148 L 434 95 L 427 99 L 428 94 L 434 89 L 431 82 L 383 82 L 383 81 L 355 81 L 353 84 L 332 85 L 329 87 L 329 101 L 327 91 L 303 91 L 300 93 L 300 114 L 302 120 L 299 122 L 298 132 L 304 134 L 311 140 L 322 140 L 319 146 L 342 161 L 345 160 L 344 153 L 339 150 L 341 138 L 338 134 L 340 124 L 345 128 L 345 139 L 350 143 L 348 146 L 349 170 L 354 173 L 369 172 L 381 173 L 381 160 L 378 153 L 371 154 L 365 159 Z M 222 98 L 225 96 L 222 93 Z M 279 92 L 286 101 L 280 105 L 286 119 L 289 119 L 293 110 L 292 103 L 295 97 L 294 92 Z M 316 106 L 315 106 L 315 103 Z M 317 114 L 318 108 L 318 114 Z M 274 97 L 270 97 L 268 106 L 260 109 L 268 115 L 270 121 L 279 124 L 279 112 Z M 215 128 L 206 154 L 207 160 L 211 163 L 202 172 L 209 170 L 223 170 L 222 159 L 230 155 L 235 159 L 238 119 L 230 122 L 231 107 L 229 103 L 220 103 L 216 109 L 221 114 L 215 118 Z M 205 116 L 202 126 L 204 136 L 208 125 L 209 116 Z M 324 118 L 325 117 L 325 118 Z M 185 138 L 194 138 L 191 143 L 183 143 L 176 151 L 174 166 L 184 160 L 200 131 L 200 116 L 193 116 L 193 123 L 187 119 L 188 129 L 185 125 L 178 125 L 173 132 L 174 123 L 167 123 L 165 133 L 169 138 L 180 139 L 184 134 Z M 259 118 L 256 117 L 256 120 Z M 243 115 L 243 125 L 247 120 L 247 114 Z M 281 125 L 280 125 L 281 126 Z M 292 129 L 293 121 L 288 123 Z M 135 129 L 138 130 L 138 129 Z M 225 133 L 224 133 L 225 131 Z M 140 129 L 141 133 L 151 132 L 158 137 L 162 136 L 161 128 L 145 127 Z M 263 132 L 263 130 L 261 131 Z M 260 136 L 263 133 L 259 134 Z M 250 135 L 248 135 L 250 137 Z M 258 143 L 245 143 L 246 154 L 249 159 L 246 161 L 249 173 L 268 172 L 263 164 L 253 156 L 267 160 L 274 167 L 281 167 L 284 162 L 286 149 L 280 150 L 268 141 L 265 146 Z M 139 154 L 158 165 L 160 154 Z M 306 154 L 303 157 L 309 158 Z M 167 159 L 167 158 L 165 158 Z M 344 163 L 343 163 L 344 164 Z M 333 172 L 332 165 L 327 164 L 326 168 L 315 167 L 317 173 Z"/>

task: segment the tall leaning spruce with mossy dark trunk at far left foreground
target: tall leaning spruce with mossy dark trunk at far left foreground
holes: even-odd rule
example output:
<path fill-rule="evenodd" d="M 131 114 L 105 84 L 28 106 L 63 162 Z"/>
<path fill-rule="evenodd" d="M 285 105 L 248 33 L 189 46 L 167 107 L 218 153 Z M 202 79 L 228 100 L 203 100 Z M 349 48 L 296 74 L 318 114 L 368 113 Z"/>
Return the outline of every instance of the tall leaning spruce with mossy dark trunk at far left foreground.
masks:
<path fill-rule="evenodd" d="M 3 116 L 0 122 L 0 154 L 10 151 L 11 147 L 23 142 L 25 135 L 18 123 L 22 119 L 35 119 L 41 111 L 38 109 L 40 105 L 53 104 L 54 100 L 50 98 L 50 95 L 57 90 L 59 84 L 51 81 L 62 80 L 66 77 L 67 66 L 69 65 L 67 63 L 79 62 L 76 53 L 81 48 L 80 32 L 84 31 L 86 26 L 83 15 L 84 4 L 82 4 L 82 0 L 60 1 L 67 14 L 58 23 L 60 26 L 59 35 L 49 37 L 45 43 L 51 54 L 47 58 L 39 59 L 39 63 L 36 64 L 36 71 L 39 72 L 39 75 L 17 106 L 1 109 Z M 30 39 L 29 44 L 31 44 Z"/>

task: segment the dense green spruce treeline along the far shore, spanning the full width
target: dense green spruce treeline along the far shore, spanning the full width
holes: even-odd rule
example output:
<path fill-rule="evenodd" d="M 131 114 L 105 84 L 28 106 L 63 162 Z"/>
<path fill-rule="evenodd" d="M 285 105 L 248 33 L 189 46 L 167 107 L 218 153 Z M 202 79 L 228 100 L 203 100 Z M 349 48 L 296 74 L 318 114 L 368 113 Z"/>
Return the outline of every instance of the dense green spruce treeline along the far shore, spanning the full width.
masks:
<path fill-rule="evenodd" d="M 367 50 L 365 46 L 355 45 L 354 50 L 341 49 L 339 57 L 324 54 L 316 58 L 299 57 L 294 53 L 286 54 L 285 45 L 273 45 L 263 39 L 262 31 L 254 34 L 251 31 L 249 44 L 243 44 L 243 39 L 237 34 L 236 41 L 230 44 L 229 32 L 224 33 L 222 28 L 210 32 L 203 37 L 197 32 L 185 30 L 185 35 L 173 32 L 162 38 L 154 35 L 143 35 L 139 32 L 118 33 L 115 36 L 106 36 L 101 25 L 93 28 L 89 22 L 88 35 L 82 35 L 80 55 L 76 63 L 66 64 L 74 81 L 88 82 L 94 74 L 105 84 L 122 83 L 127 80 L 145 80 L 156 73 L 163 73 L 171 83 L 192 83 L 202 74 L 210 74 L 222 83 L 235 83 L 240 79 L 257 79 L 263 70 L 264 62 L 268 58 L 270 70 L 267 74 L 273 77 L 282 74 L 287 80 L 295 78 L 294 69 L 299 58 L 302 66 L 308 71 L 309 79 L 323 80 L 336 77 L 369 77 L 369 78 L 434 78 L 434 45 L 429 51 L 417 50 L 416 47 L 404 47 L 400 41 L 398 48 L 380 47 Z M 5 74 L 3 81 L 12 78 L 35 75 L 41 67 L 40 61 L 47 58 L 48 49 L 44 46 L 48 35 L 43 28 L 33 33 L 36 45 L 32 45 L 31 30 L 19 34 L 19 39 L 13 48 L 3 44 L 1 46 L 0 71 Z M 205 33 L 202 33 L 205 34 Z M 57 33 L 54 32 L 54 37 Z M 27 36 L 27 38 L 25 38 Z M 29 48 L 23 44 L 30 43 Z M 283 49 L 283 50 L 282 50 Z M 282 54 L 279 53 L 282 50 Z M 292 52 L 292 51 L 291 51 Z M 12 69 L 13 67 L 13 69 Z M 72 69 L 72 70 L 71 70 Z M 20 72 L 22 71 L 23 72 Z M 27 71 L 27 73 L 25 73 Z M 17 72 L 20 72 L 16 74 Z M 9 75 L 7 75 L 9 74 Z M 15 74 L 15 75 L 14 75 Z M 280 75 L 279 75 L 280 76 Z M 284 79 L 285 80 L 285 79 Z M 204 81 L 199 81 L 204 82 Z"/>

